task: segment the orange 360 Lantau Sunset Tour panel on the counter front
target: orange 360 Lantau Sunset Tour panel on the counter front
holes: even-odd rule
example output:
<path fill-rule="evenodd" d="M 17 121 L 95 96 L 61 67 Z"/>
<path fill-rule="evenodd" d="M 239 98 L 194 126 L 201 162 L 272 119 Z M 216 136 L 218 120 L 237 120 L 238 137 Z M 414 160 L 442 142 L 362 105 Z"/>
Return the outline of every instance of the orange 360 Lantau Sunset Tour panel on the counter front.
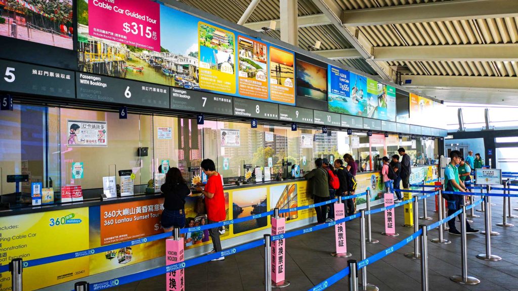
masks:
<path fill-rule="evenodd" d="M 164 198 L 101 206 L 101 245 L 162 233 L 160 213 L 163 209 Z"/>

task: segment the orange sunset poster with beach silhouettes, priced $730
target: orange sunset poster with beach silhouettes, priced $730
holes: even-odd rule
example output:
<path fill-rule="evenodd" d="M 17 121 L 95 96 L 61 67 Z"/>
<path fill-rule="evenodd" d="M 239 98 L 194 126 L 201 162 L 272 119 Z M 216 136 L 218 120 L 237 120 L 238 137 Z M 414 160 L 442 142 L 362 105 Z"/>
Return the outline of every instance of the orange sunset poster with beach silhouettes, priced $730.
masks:
<path fill-rule="evenodd" d="M 295 55 L 270 46 L 270 99 L 295 104 Z"/>

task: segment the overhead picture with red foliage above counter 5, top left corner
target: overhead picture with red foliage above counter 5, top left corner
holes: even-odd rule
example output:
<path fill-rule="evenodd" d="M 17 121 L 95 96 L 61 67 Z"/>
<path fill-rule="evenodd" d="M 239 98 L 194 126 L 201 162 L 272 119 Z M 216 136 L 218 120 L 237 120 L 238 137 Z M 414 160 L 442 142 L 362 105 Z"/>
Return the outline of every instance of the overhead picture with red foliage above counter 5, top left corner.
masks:
<path fill-rule="evenodd" d="M 71 50 L 73 6 L 72 0 L 0 0 L 0 36 Z"/>

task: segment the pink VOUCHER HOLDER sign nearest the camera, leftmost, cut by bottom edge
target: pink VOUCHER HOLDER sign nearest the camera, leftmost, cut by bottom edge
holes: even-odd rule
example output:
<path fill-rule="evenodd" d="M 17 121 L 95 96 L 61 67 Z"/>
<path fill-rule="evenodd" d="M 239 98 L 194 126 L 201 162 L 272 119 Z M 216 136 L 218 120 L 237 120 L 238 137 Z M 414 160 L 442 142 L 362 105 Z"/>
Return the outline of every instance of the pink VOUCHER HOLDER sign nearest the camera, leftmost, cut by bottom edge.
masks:
<path fill-rule="evenodd" d="M 179 240 L 167 239 L 165 249 L 166 266 L 183 261 L 183 238 Z M 184 269 L 167 272 L 165 285 L 167 291 L 185 291 Z"/>

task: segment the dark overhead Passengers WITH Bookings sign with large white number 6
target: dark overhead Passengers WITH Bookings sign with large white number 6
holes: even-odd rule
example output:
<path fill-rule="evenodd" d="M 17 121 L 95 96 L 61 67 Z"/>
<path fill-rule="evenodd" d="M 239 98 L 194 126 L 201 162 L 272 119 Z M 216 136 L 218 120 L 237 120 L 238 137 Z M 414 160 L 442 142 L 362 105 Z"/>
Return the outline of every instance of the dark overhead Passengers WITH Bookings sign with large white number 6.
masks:
<path fill-rule="evenodd" d="M 169 88 L 118 78 L 76 72 L 77 98 L 169 108 Z"/>

